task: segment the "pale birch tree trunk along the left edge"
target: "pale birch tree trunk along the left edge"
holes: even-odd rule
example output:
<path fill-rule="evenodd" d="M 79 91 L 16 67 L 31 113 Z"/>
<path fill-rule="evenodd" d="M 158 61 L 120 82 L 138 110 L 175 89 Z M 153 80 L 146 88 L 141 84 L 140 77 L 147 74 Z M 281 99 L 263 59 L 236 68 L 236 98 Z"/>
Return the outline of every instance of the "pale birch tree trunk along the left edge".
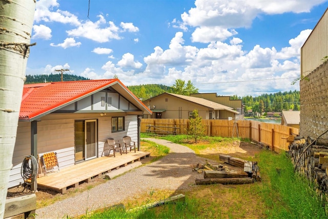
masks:
<path fill-rule="evenodd" d="M 35 4 L 35 0 L 0 0 L 0 218 L 5 212 Z"/>

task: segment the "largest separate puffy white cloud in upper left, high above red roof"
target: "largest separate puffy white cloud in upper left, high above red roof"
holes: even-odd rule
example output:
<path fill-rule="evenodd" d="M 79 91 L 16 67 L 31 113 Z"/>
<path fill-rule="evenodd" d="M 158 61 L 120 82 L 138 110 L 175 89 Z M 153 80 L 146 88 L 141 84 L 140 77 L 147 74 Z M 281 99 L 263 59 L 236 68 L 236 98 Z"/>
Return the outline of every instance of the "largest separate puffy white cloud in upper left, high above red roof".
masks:
<path fill-rule="evenodd" d="M 120 39 L 119 28 L 113 22 L 106 23 L 103 15 L 98 15 L 99 20 L 95 23 L 87 21 L 76 29 L 66 31 L 69 36 L 85 37 L 98 43 L 106 43 L 111 39 Z M 105 28 L 101 26 L 106 25 Z"/>

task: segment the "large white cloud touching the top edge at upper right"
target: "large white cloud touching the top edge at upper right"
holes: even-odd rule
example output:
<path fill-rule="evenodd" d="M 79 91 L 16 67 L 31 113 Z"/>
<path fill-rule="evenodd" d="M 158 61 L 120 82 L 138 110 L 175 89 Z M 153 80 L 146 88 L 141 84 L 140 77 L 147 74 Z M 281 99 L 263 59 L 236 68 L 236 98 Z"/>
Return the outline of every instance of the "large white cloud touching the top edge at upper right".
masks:
<path fill-rule="evenodd" d="M 281 14 L 285 12 L 309 12 L 310 9 L 326 0 L 196 0 L 195 7 L 181 14 L 180 21 L 173 20 L 174 27 L 181 29 L 195 27 L 192 33 L 193 42 L 210 43 L 224 41 L 237 34 L 236 28 L 247 28 L 252 25 L 256 16 L 261 13 Z"/>

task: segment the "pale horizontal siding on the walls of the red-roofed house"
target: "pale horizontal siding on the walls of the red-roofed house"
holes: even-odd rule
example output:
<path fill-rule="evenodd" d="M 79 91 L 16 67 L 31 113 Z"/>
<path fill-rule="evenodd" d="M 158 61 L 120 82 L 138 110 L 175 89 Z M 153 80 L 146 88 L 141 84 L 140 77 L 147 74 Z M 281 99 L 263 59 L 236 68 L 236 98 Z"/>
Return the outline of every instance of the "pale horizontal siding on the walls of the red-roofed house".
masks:
<path fill-rule="evenodd" d="M 107 113 L 100 116 L 94 114 L 50 114 L 42 117 L 37 122 L 37 153 L 39 156 L 47 152 L 56 152 L 59 169 L 63 169 L 75 164 L 74 148 L 74 121 L 75 120 L 98 120 L 98 156 L 104 150 L 104 142 L 109 137 L 116 141 L 125 135 L 130 135 L 132 141 L 137 141 L 137 115 L 127 115 L 125 113 Z M 98 116 L 98 117 L 97 117 Z M 125 131 L 111 132 L 112 116 L 125 116 Z M 24 183 L 20 175 L 20 169 L 24 156 L 31 154 L 31 123 L 19 122 L 17 127 L 16 144 L 13 156 L 13 169 L 10 172 L 9 187 L 14 187 Z"/>

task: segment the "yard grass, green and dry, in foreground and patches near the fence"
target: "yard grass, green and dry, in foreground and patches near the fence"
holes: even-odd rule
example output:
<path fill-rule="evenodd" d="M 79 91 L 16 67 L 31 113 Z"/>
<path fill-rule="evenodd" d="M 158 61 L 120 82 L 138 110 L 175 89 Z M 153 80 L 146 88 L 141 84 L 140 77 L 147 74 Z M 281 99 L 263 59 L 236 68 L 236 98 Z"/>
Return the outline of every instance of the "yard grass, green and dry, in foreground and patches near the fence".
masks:
<path fill-rule="evenodd" d="M 144 136 L 148 137 L 148 136 Z M 186 143 L 186 136 L 160 137 L 186 145 L 203 148 L 204 145 Z M 233 141 L 230 138 L 210 137 L 212 143 Z M 147 143 L 151 144 L 151 143 Z M 157 148 L 156 144 L 151 144 Z M 211 147 L 211 144 L 207 145 Z M 327 218 L 323 203 L 314 187 L 304 177 L 294 173 L 291 160 L 285 153 L 262 150 L 256 155 L 261 182 L 247 185 L 202 185 L 183 191 L 185 202 L 137 211 L 124 207 L 106 209 L 88 214 L 88 218 Z M 158 200 L 154 200 L 158 201 Z M 152 202 L 150 194 L 149 202 Z M 139 206 L 128 206 L 129 208 Z"/>

